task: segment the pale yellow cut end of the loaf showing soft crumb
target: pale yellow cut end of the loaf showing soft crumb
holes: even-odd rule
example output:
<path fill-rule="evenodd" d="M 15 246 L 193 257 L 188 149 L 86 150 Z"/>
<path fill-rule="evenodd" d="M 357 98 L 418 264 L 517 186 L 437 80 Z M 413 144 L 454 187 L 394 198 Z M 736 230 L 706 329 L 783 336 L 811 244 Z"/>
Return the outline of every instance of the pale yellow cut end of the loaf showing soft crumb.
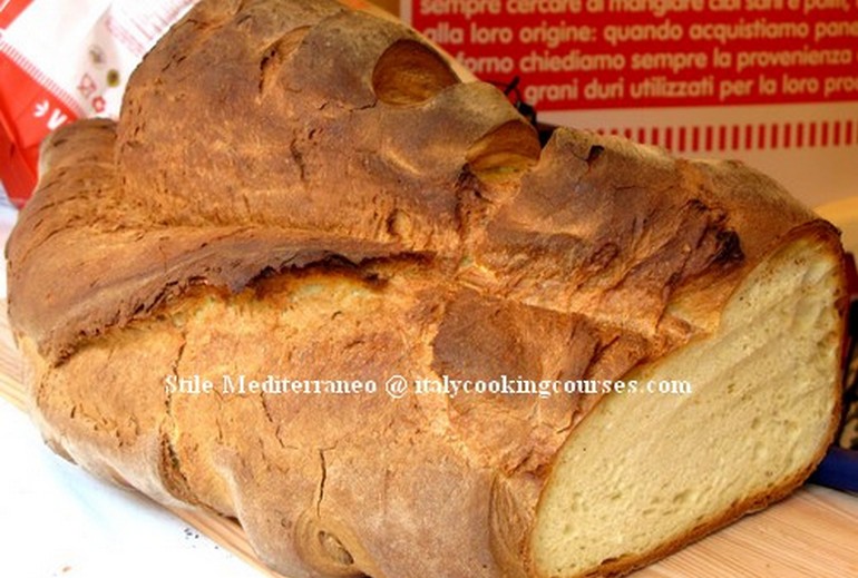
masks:
<path fill-rule="evenodd" d="M 625 574 L 801 483 L 836 423 L 841 275 L 829 238 L 799 237 L 740 285 L 715 335 L 627 375 L 637 390 L 604 399 L 558 454 L 534 574 Z"/>

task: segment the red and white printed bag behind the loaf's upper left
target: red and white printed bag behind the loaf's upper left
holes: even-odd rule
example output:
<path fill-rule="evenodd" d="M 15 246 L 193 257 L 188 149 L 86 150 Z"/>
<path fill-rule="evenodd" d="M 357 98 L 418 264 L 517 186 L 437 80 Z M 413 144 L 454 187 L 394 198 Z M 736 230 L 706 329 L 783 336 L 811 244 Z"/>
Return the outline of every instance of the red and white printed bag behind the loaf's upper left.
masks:
<path fill-rule="evenodd" d="M 128 76 L 196 0 L 0 0 L 0 180 L 21 206 L 39 144 L 81 117 L 116 117 Z"/>

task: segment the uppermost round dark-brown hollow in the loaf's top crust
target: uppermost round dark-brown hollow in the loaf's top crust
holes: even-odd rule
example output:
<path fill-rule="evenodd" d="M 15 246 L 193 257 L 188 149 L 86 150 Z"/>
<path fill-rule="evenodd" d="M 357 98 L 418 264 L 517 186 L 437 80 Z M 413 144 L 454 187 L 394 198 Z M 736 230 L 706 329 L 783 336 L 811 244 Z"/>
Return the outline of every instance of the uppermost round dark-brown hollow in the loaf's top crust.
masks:
<path fill-rule="evenodd" d="M 459 78 L 437 52 L 416 40 L 397 40 L 381 55 L 372 71 L 372 89 L 382 102 L 418 105 Z"/>

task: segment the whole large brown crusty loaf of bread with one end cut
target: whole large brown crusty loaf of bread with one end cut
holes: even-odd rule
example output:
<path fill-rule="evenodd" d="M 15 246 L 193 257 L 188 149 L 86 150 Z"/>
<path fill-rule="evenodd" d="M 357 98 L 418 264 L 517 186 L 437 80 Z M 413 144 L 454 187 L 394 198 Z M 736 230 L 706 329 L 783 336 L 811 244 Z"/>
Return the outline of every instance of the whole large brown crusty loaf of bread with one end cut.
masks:
<path fill-rule="evenodd" d="M 197 4 L 118 123 L 45 143 L 7 257 L 47 443 L 290 578 L 628 572 L 787 496 L 838 415 L 831 225 L 737 163 L 540 147 L 328 0 Z"/>

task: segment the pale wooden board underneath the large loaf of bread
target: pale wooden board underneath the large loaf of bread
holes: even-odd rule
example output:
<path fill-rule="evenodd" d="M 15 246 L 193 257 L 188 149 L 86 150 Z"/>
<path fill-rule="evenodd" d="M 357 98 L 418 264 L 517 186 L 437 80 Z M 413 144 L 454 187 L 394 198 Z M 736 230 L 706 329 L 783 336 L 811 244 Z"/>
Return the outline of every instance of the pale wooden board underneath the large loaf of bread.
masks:
<path fill-rule="evenodd" d="M 0 398 L 23 410 L 21 360 L 0 302 Z M 74 499 L 69 497 L 69 499 Z M 241 527 L 217 516 L 173 510 L 262 576 Z M 858 496 L 806 486 L 787 500 L 714 533 L 633 578 L 848 578 L 858 577 Z M 430 577 L 427 577 L 430 578 Z M 467 578 L 467 577 L 462 577 Z"/>

